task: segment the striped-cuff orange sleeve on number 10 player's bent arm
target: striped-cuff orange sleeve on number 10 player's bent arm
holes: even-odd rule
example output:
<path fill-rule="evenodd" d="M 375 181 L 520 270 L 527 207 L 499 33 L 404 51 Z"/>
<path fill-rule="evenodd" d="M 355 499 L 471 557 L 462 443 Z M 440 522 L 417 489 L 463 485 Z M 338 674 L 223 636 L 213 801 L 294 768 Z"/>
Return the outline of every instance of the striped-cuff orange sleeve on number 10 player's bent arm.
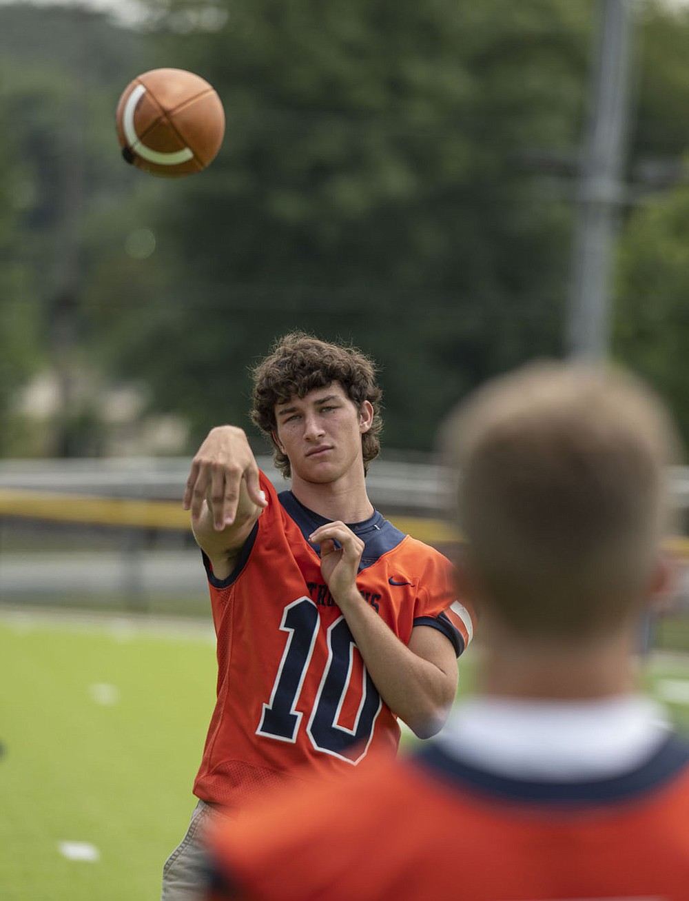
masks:
<path fill-rule="evenodd" d="M 414 626 L 426 625 L 447 636 L 459 657 L 474 638 L 476 614 L 458 599 L 457 579 L 450 561 L 434 551 L 420 584 Z"/>

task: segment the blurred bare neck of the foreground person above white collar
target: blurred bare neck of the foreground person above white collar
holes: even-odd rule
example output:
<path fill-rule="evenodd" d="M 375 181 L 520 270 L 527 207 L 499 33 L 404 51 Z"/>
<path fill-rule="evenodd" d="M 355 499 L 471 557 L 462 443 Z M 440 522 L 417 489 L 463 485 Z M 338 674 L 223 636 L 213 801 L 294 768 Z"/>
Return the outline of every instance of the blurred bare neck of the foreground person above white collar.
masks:
<path fill-rule="evenodd" d="M 629 694 L 637 665 L 629 633 L 585 647 L 489 642 L 482 658 L 482 694 L 575 701 Z"/>

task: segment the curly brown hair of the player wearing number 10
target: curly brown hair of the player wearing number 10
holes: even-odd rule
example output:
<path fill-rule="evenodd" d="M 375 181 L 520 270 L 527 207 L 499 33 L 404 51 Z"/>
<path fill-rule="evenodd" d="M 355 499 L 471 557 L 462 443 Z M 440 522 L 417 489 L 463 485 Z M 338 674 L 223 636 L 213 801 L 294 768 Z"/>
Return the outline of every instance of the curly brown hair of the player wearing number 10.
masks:
<path fill-rule="evenodd" d="M 252 370 L 253 407 L 251 422 L 258 425 L 273 445 L 277 469 L 289 478 L 289 458 L 273 437 L 277 432 L 275 408 L 290 397 L 304 397 L 314 388 L 338 382 L 358 409 L 364 401 L 373 406 L 373 423 L 361 435 L 364 472 L 380 451 L 379 434 L 383 429 L 380 415 L 383 392 L 376 385 L 376 365 L 356 347 L 321 341 L 306 332 L 288 332 L 278 338 L 269 355 Z"/>

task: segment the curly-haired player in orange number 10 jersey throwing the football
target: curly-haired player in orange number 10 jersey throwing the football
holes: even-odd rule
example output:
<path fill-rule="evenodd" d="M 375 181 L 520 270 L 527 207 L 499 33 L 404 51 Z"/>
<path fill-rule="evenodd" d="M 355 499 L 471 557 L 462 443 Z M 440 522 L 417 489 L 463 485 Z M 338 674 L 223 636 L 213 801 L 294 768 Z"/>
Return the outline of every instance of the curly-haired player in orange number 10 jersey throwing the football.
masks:
<path fill-rule="evenodd" d="M 193 461 L 185 505 L 210 587 L 217 701 L 163 901 L 197 896 L 214 815 L 285 778 L 393 755 L 398 717 L 437 732 L 473 633 L 450 561 L 368 498 L 381 428 L 371 360 L 293 332 L 253 375 L 252 419 L 291 490 L 277 494 L 235 426 L 213 429 Z"/>

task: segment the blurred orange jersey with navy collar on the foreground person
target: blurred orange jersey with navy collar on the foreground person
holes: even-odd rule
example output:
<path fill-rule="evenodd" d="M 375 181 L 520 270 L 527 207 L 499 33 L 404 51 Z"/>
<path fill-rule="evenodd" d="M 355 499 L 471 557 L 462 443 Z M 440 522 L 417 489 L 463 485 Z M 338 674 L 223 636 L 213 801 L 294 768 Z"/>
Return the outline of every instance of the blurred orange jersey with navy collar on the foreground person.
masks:
<path fill-rule="evenodd" d="M 603 778 L 494 775 L 431 742 L 209 833 L 236 901 L 686 901 L 689 747 Z"/>

